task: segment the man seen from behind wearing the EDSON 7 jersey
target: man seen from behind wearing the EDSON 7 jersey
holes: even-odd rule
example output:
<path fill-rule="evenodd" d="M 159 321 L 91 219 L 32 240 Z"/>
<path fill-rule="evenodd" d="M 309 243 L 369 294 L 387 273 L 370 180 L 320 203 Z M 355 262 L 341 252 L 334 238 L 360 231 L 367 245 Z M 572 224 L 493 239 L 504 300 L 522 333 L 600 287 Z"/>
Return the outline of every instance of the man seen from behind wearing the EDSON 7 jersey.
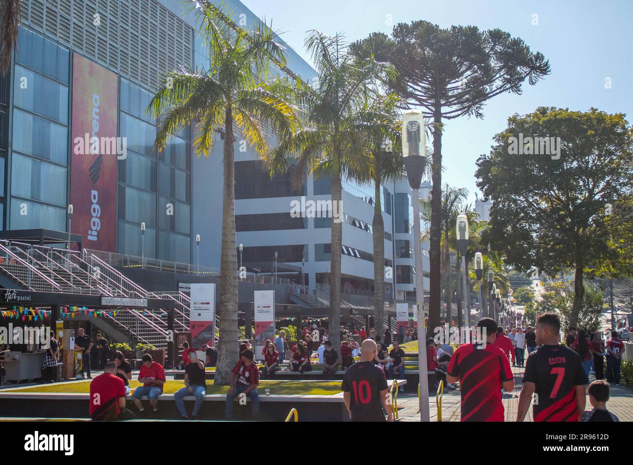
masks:
<path fill-rule="evenodd" d="M 534 394 L 534 421 L 580 421 L 585 409 L 587 378 L 580 357 L 558 342 L 560 319 L 544 313 L 536 319 L 536 342 L 542 344 L 528 357 L 517 421 L 523 421 Z"/>

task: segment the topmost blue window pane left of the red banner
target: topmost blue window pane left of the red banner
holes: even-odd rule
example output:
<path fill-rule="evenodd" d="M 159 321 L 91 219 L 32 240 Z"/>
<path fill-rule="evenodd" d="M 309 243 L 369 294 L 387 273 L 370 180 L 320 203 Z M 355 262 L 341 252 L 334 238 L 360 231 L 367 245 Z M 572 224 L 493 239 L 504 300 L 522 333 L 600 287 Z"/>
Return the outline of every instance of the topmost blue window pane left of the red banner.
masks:
<path fill-rule="evenodd" d="M 22 27 L 15 61 L 68 84 L 68 50 Z"/>

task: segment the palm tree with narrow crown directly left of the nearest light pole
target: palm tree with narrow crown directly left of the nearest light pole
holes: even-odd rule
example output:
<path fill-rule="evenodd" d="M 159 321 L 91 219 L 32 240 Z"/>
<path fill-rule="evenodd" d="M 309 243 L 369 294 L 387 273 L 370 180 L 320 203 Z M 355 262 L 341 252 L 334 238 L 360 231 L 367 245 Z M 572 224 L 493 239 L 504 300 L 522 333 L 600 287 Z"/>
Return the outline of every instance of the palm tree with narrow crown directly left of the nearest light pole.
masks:
<path fill-rule="evenodd" d="M 402 121 L 397 108 L 401 105 L 395 94 L 387 96 L 373 93 L 367 98 L 364 108 L 356 116 L 358 132 L 365 134 L 367 147 L 362 151 L 361 171 L 353 167 L 349 176 L 361 183 L 373 183 L 373 323 L 377 335 L 384 333 L 385 304 L 385 225 L 382 219 L 382 197 L 380 186 L 386 180 L 396 180 L 405 175 L 402 157 L 400 128 Z"/>

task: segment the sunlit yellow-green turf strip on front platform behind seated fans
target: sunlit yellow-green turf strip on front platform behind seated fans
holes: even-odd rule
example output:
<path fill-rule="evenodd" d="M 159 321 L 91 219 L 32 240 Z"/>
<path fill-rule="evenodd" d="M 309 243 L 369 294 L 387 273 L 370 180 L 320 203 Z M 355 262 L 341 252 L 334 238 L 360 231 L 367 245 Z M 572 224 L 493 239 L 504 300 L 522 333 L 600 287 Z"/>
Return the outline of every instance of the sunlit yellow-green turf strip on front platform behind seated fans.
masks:
<path fill-rule="evenodd" d="M 130 381 L 130 388 L 139 387 L 139 381 Z M 163 394 L 173 394 L 184 387 L 184 381 L 168 380 L 163 388 Z M 262 380 L 258 387 L 260 395 L 264 395 L 265 389 L 270 389 L 270 394 L 299 394 L 299 395 L 334 395 L 341 392 L 341 381 L 275 381 Z M 207 383 L 206 394 L 227 394 L 228 386 L 216 386 Z M 6 391 L 13 392 L 42 392 L 51 394 L 88 394 L 90 392 L 90 381 L 76 381 L 63 384 L 47 384 Z"/>

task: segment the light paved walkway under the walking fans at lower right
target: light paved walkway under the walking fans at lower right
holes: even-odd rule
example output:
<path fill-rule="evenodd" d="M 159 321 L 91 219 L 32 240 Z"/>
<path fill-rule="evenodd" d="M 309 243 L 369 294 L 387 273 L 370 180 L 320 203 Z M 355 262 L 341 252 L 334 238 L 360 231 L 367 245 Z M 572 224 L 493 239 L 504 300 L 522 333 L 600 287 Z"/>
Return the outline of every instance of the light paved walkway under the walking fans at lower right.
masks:
<path fill-rule="evenodd" d="M 515 375 L 515 388 L 513 392 L 503 394 L 503 407 L 505 409 L 505 421 L 516 421 L 518 408 L 518 395 L 523 387 L 524 368 L 512 368 Z M 594 381 L 594 376 L 589 376 Z M 460 421 L 460 390 L 444 391 L 442 397 L 442 421 Z M 625 386 L 611 385 L 611 399 L 607 404 L 620 421 L 633 421 L 633 390 Z M 401 421 L 420 421 L 418 397 L 415 394 L 398 395 L 398 415 Z M 587 395 L 586 410 L 591 410 L 589 395 Z M 429 412 L 431 421 L 437 421 L 436 397 L 429 397 Z M 532 408 L 527 412 L 525 421 L 532 421 Z"/>

